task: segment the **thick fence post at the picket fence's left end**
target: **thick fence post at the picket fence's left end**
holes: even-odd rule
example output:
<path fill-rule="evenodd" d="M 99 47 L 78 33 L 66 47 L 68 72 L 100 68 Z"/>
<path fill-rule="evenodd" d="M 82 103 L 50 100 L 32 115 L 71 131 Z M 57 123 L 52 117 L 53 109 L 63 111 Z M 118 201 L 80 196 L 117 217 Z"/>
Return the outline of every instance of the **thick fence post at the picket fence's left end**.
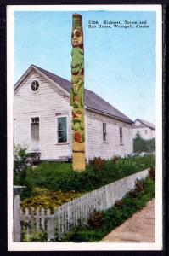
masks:
<path fill-rule="evenodd" d="M 14 241 L 20 241 L 20 195 L 14 196 Z"/>

